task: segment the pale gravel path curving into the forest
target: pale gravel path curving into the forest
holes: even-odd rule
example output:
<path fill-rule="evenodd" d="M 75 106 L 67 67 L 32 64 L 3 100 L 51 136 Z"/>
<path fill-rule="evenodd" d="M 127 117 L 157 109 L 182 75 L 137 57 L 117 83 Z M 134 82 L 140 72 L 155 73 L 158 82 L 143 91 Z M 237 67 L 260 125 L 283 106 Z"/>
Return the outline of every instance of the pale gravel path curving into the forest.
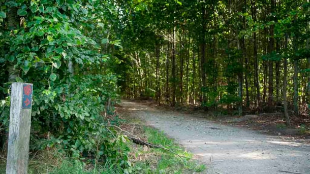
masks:
<path fill-rule="evenodd" d="M 301 141 L 286 141 L 130 100 L 123 100 L 121 106 L 205 161 L 209 168 L 204 173 L 310 173 L 310 145 Z"/>

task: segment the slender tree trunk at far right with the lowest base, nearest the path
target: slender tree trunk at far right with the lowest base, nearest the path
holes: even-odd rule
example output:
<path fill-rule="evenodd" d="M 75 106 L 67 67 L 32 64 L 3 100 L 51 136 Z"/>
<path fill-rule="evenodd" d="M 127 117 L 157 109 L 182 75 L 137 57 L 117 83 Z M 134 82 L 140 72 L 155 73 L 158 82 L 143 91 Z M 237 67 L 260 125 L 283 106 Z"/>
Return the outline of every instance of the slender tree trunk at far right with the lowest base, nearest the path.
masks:
<path fill-rule="evenodd" d="M 285 50 L 287 51 L 288 46 L 288 34 L 285 36 Z M 284 106 L 284 115 L 286 119 L 286 124 L 288 126 L 291 125 L 290 117 L 288 112 L 288 104 L 287 104 L 287 75 L 288 75 L 288 60 L 287 57 L 284 58 L 284 75 L 283 75 L 283 106 Z"/>

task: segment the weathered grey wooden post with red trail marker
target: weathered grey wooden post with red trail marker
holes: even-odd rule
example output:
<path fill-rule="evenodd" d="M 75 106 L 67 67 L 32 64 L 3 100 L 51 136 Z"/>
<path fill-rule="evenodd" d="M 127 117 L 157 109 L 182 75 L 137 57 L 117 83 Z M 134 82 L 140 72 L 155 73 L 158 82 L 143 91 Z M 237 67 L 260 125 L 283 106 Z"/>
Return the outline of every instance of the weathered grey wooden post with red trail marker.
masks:
<path fill-rule="evenodd" d="M 12 83 L 6 174 L 27 173 L 33 84 Z"/>

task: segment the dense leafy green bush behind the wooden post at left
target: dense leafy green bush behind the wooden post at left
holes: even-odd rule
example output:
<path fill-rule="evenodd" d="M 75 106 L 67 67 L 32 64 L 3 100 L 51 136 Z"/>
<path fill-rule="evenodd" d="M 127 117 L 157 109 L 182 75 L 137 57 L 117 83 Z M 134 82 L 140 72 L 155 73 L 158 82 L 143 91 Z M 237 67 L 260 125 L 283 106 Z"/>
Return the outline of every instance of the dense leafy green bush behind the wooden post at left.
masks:
<path fill-rule="evenodd" d="M 115 19 L 113 2 L 32 0 L 1 6 L 1 136 L 8 131 L 11 82 L 33 83 L 32 150 L 60 146 L 74 159 L 112 163 L 117 171 L 130 168 L 128 138 L 114 137 L 106 125 L 117 121 L 103 116 L 114 115 L 118 99 L 110 68 L 117 63 L 110 57 L 122 46 L 106 27 Z"/>

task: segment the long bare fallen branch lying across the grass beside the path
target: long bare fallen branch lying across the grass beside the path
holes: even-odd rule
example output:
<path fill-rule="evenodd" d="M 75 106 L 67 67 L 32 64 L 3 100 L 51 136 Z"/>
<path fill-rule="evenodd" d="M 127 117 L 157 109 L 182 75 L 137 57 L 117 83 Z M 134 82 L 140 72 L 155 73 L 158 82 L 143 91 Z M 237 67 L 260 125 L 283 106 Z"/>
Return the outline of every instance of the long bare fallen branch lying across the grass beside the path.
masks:
<path fill-rule="evenodd" d="M 138 136 L 126 131 L 126 130 L 123 130 L 122 128 L 118 127 L 118 126 L 115 126 L 115 125 L 105 125 L 105 127 L 115 127 L 117 128 L 118 130 L 120 130 L 120 133 L 121 132 L 125 132 L 127 134 L 127 136 L 130 138 L 131 141 L 133 141 L 133 143 L 135 144 L 138 144 L 138 145 L 143 145 L 143 146 L 147 146 L 147 147 L 150 147 L 150 148 L 156 148 L 156 149 L 163 149 L 165 151 L 168 151 L 170 153 L 173 153 L 174 155 L 178 156 L 179 158 L 187 158 L 187 159 L 191 159 L 191 160 L 196 160 L 196 161 L 199 161 L 199 162 L 203 162 L 205 163 L 205 161 L 201 161 L 201 160 L 198 160 L 198 159 L 195 159 L 195 158 L 190 158 L 190 157 L 187 157 L 187 156 L 183 156 L 183 155 L 179 155 L 175 152 L 173 152 L 173 150 L 176 150 L 176 149 L 168 149 L 168 148 L 165 148 L 163 146 L 159 146 L 159 145 L 153 145 L 153 144 L 150 144 L 148 142 L 144 142 L 142 141 Z M 112 133 L 111 131 L 109 131 L 110 133 Z M 114 135 L 113 135 L 114 136 Z"/>

